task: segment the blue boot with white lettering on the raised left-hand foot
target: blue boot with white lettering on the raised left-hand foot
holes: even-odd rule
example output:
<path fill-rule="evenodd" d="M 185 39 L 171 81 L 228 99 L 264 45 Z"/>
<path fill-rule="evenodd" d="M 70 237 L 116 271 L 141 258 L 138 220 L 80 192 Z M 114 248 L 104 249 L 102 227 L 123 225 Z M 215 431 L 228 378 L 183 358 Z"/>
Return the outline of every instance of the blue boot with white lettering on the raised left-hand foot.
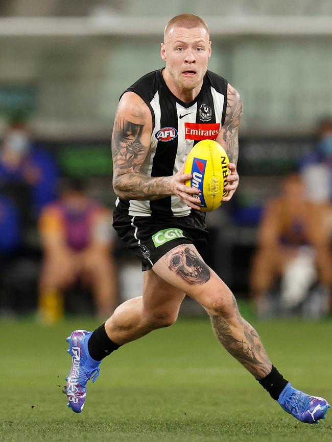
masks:
<path fill-rule="evenodd" d="M 75 413 L 83 410 L 86 397 L 86 383 L 89 379 L 94 382 L 100 373 L 100 362 L 92 359 L 88 351 L 88 340 L 92 331 L 75 330 L 66 341 L 69 343 L 67 350 L 72 356 L 72 367 L 66 378 L 67 406 Z"/>

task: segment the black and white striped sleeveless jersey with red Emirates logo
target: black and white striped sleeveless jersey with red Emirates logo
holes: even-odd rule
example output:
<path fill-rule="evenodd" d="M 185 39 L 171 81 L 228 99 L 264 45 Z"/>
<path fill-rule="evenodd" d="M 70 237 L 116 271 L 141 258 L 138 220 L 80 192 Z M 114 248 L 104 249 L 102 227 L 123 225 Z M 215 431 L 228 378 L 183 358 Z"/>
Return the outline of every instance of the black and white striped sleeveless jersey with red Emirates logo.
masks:
<path fill-rule="evenodd" d="M 151 147 L 140 169 L 152 177 L 174 175 L 198 141 L 215 140 L 224 123 L 227 105 L 227 81 L 223 77 L 207 71 L 197 97 L 185 103 L 170 91 L 161 71 L 148 73 L 125 91 L 139 95 L 152 114 Z M 154 201 L 117 198 L 116 206 L 131 216 L 178 217 L 191 211 L 174 195 Z"/>

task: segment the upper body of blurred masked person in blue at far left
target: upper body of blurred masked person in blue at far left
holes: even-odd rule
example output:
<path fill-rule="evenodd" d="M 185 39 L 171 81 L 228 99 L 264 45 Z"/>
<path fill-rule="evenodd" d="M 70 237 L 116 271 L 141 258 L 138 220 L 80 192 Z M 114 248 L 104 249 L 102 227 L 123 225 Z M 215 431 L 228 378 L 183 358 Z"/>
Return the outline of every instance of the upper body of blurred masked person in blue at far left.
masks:
<path fill-rule="evenodd" d="M 27 221 L 56 198 L 57 182 L 52 155 L 31 140 L 24 118 L 13 118 L 0 150 L 0 191 L 16 203 L 21 219 Z"/>

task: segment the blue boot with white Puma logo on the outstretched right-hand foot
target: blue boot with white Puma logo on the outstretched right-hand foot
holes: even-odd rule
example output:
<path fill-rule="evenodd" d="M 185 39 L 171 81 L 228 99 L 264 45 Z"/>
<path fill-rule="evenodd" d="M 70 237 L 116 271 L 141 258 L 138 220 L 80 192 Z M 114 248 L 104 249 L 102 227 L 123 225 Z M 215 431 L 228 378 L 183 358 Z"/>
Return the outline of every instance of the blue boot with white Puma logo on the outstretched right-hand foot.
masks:
<path fill-rule="evenodd" d="M 300 392 L 290 382 L 280 393 L 278 403 L 294 418 L 306 424 L 318 424 L 320 419 L 325 419 L 325 413 L 330 408 L 326 399 Z"/>

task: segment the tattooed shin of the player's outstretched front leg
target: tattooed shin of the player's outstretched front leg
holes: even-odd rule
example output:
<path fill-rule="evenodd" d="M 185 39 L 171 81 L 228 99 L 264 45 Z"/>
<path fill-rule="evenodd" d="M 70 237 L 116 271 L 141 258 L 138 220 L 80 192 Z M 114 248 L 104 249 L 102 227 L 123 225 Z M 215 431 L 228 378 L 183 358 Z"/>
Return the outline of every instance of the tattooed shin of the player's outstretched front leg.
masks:
<path fill-rule="evenodd" d="M 256 330 L 245 321 L 233 297 L 236 322 L 210 315 L 212 328 L 225 349 L 255 376 L 262 379 L 271 372 L 272 364 Z"/>

